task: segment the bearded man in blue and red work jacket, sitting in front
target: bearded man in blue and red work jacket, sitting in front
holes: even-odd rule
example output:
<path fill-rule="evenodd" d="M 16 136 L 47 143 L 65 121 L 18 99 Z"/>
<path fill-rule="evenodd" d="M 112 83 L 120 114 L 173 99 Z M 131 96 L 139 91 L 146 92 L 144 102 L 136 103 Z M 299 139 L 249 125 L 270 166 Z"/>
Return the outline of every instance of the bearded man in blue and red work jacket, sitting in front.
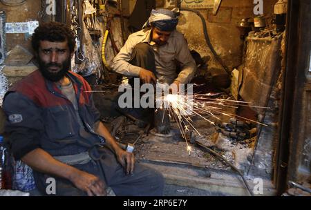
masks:
<path fill-rule="evenodd" d="M 43 23 L 32 35 L 39 70 L 12 86 L 3 101 L 15 159 L 34 170 L 46 193 L 56 195 L 162 195 L 160 173 L 135 163 L 118 146 L 94 106 L 91 88 L 70 72 L 75 37 L 62 23 Z"/>

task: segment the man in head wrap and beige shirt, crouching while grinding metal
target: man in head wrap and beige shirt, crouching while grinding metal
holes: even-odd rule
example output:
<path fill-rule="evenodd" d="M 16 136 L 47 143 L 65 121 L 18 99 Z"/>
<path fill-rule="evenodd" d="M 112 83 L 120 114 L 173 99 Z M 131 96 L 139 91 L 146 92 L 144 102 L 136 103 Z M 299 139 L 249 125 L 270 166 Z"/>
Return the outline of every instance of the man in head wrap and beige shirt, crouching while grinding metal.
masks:
<path fill-rule="evenodd" d="M 113 59 L 112 70 L 130 77 L 132 88 L 135 77 L 147 84 L 156 84 L 157 81 L 173 84 L 177 90 L 179 84 L 189 83 L 196 73 L 196 62 L 191 57 L 185 37 L 176 30 L 177 24 L 176 12 L 152 10 L 143 29 L 130 35 Z M 180 66 L 179 73 L 177 66 Z M 150 122 L 154 109 L 151 110 L 132 108 L 121 112 Z"/>

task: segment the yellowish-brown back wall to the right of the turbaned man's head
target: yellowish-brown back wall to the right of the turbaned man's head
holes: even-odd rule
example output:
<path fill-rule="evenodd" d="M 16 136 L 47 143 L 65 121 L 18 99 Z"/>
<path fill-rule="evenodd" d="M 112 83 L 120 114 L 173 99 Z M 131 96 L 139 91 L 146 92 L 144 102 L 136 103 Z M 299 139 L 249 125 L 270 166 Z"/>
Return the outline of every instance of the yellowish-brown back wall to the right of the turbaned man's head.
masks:
<path fill-rule="evenodd" d="M 162 0 L 157 0 L 157 2 L 162 2 Z M 263 12 L 267 17 L 267 23 L 272 19 L 274 3 L 276 0 L 263 2 Z M 167 5 L 168 3 L 165 4 Z M 198 10 L 207 23 L 212 46 L 230 70 L 241 64 L 243 56 L 243 39 L 240 38 L 241 32 L 236 27 L 237 22 L 243 18 L 254 17 L 254 6 L 253 1 L 249 0 L 227 0 L 221 2 L 216 16 L 212 14 L 212 9 Z M 200 17 L 188 11 L 182 11 L 181 14 L 177 28 L 185 35 L 190 50 L 196 50 L 201 57 L 207 56 L 208 69 L 223 70 L 206 44 Z"/>

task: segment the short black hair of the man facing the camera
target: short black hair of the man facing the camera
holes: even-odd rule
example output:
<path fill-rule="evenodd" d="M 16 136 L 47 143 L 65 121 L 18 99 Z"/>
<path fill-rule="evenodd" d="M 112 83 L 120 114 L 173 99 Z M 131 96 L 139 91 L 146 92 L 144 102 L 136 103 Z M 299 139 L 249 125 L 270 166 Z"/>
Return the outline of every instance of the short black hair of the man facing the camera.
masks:
<path fill-rule="evenodd" d="M 31 44 L 37 53 L 40 41 L 68 41 L 70 53 L 75 51 L 75 35 L 73 30 L 59 22 L 41 23 L 32 35 Z"/>

